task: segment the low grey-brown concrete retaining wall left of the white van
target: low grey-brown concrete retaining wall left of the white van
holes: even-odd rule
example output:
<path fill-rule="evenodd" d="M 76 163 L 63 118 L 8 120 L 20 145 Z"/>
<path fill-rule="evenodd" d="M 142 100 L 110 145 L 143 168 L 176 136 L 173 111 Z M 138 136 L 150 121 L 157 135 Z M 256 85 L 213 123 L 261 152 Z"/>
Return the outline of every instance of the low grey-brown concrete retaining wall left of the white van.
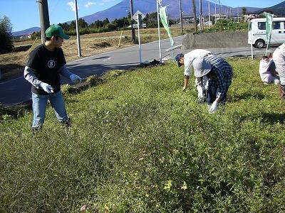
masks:
<path fill-rule="evenodd" d="M 181 50 L 195 48 L 240 48 L 247 47 L 247 32 L 214 32 L 193 35 L 186 34 Z"/>

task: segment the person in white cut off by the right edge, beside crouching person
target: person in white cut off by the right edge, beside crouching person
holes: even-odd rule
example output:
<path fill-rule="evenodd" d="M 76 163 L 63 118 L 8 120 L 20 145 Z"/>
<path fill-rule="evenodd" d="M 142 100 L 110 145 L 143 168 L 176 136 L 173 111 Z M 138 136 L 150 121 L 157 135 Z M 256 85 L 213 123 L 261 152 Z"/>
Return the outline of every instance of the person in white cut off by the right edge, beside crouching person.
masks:
<path fill-rule="evenodd" d="M 280 79 L 279 94 L 285 100 L 285 43 L 274 50 L 272 58 Z"/>

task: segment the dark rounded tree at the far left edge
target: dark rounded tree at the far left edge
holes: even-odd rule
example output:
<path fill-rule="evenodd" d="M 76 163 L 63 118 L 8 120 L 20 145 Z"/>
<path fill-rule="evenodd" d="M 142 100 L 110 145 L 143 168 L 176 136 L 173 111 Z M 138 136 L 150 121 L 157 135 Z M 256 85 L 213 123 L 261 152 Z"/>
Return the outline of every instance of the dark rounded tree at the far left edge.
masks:
<path fill-rule="evenodd" d="M 7 16 L 0 18 L 0 53 L 10 53 L 14 49 L 12 25 Z"/>

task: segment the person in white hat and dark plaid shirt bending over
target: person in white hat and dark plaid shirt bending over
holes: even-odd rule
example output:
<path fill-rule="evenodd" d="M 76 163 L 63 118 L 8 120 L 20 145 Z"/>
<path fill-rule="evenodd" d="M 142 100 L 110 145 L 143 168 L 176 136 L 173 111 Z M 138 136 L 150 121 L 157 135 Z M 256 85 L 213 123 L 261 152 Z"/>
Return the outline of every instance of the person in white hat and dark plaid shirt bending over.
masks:
<path fill-rule="evenodd" d="M 207 76 L 209 81 L 207 104 L 209 113 L 217 111 L 218 104 L 225 104 L 227 91 L 232 84 L 232 67 L 223 58 L 207 56 L 193 61 L 194 75 L 197 78 Z"/>

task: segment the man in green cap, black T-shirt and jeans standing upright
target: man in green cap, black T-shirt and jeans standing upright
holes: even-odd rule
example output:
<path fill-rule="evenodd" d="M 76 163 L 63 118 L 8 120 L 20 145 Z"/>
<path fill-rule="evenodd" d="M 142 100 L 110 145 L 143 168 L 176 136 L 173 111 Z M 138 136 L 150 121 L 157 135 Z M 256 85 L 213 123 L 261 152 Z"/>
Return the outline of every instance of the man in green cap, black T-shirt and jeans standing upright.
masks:
<path fill-rule="evenodd" d="M 60 74 L 73 83 L 81 82 L 81 77 L 69 72 L 66 67 L 66 58 L 61 49 L 63 39 L 69 39 L 69 36 L 63 33 L 61 26 L 50 26 L 46 30 L 46 42 L 31 52 L 24 70 L 25 79 L 31 83 L 33 130 L 40 129 L 43 125 L 48 101 L 58 121 L 66 126 L 71 125 L 61 94 Z"/>

